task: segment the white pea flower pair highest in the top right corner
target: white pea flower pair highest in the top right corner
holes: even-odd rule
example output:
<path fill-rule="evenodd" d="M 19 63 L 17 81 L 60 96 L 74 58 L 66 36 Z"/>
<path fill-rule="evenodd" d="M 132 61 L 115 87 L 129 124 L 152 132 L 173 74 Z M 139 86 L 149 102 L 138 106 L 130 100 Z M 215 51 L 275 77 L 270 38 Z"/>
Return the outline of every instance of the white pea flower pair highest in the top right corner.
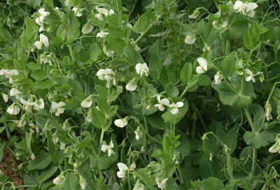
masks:
<path fill-rule="evenodd" d="M 255 8 L 258 8 L 257 3 L 243 3 L 242 1 L 235 1 L 235 5 L 233 6 L 235 11 L 247 15 L 248 17 L 255 16 Z"/>

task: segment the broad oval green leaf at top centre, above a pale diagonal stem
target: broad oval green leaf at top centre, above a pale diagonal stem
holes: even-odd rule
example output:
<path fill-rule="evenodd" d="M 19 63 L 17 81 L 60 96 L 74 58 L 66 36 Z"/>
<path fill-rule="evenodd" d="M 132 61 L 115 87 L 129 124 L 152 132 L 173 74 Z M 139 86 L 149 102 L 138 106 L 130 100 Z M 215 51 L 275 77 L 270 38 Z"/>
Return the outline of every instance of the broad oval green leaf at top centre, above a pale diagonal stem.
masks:
<path fill-rule="evenodd" d="M 135 22 L 134 27 L 132 28 L 133 31 L 135 31 L 138 34 L 144 34 L 146 29 L 151 26 L 153 21 L 155 20 L 156 16 L 154 13 L 151 12 L 151 10 L 146 11 L 137 22 Z"/>

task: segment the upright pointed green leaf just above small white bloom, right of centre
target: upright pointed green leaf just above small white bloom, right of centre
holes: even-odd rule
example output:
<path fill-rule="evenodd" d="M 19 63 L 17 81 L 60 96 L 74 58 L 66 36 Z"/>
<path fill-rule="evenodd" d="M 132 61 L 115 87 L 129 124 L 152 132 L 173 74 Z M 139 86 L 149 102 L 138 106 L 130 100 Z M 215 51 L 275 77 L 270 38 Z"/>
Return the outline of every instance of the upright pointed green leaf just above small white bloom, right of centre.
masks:
<path fill-rule="evenodd" d="M 225 78 L 228 78 L 235 73 L 235 54 L 236 52 L 231 52 L 227 57 L 225 57 L 223 63 L 218 66 Z"/>

